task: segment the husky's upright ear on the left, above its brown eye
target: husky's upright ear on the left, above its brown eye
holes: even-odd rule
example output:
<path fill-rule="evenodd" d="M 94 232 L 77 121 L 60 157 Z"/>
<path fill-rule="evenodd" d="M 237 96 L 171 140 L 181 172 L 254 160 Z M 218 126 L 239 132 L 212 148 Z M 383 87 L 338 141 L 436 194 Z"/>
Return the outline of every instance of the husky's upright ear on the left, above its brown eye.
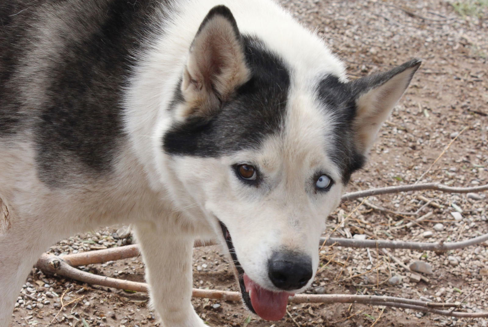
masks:
<path fill-rule="evenodd" d="M 193 39 L 184 67 L 181 92 L 184 105 L 178 118 L 209 117 L 250 77 L 244 43 L 230 10 L 213 7 Z"/>

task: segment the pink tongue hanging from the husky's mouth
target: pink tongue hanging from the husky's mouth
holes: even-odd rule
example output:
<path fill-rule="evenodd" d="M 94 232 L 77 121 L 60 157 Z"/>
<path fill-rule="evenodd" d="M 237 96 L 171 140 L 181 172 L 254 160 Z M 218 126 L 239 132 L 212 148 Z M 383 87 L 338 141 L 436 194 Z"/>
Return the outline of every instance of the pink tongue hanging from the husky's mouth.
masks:
<path fill-rule="evenodd" d="M 251 291 L 251 304 L 257 315 L 265 320 L 280 320 L 285 316 L 288 297 L 295 294 L 288 292 L 273 292 L 263 289 L 247 274 L 244 274 L 244 286 L 247 292 Z"/>

